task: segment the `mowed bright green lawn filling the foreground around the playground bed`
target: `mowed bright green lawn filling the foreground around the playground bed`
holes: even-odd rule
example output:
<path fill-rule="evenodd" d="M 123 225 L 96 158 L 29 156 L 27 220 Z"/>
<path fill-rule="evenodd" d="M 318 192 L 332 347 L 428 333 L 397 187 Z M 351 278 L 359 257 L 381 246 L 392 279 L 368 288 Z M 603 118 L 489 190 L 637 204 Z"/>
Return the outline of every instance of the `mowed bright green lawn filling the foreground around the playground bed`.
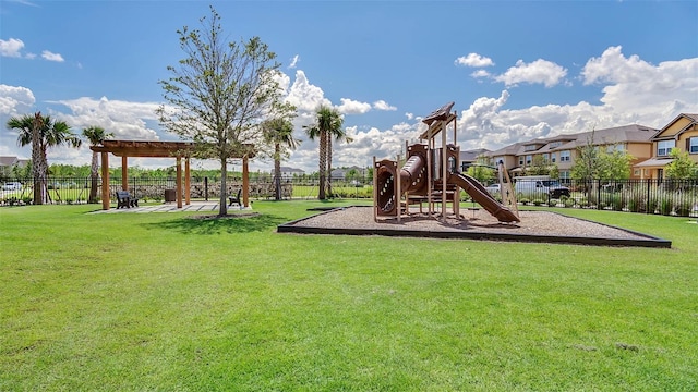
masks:
<path fill-rule="evenodd" d="M 558 210 L 671 249 L 275 232 L 320 205 L 0 208 L 0 390 L 698 388 L 688 219 Z"/>

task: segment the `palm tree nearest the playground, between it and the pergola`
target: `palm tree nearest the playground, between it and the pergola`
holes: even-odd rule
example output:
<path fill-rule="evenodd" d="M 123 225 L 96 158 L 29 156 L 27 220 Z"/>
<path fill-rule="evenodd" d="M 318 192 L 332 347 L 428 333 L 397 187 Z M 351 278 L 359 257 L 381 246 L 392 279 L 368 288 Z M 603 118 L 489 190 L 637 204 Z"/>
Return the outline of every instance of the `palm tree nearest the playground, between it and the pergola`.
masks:
<path fill-rule="evenodd" d="M 311 140 L 315 138 L 320 143 L 320 156 L 318 156 L 318 176 L 320 176 L 320 193 L 317 198 L 324 200 L 325 189 L 327 188 L 327 158 L 332 158 L 328 154 L 328 147 L 332 146 L 332 137 L 336 134 L 337 128 L 341 128 L 344 119 L 337 111 L 328 106 L 321 105 L 315 112 L 315 123 L 305 127 L 308 137 Z"/>

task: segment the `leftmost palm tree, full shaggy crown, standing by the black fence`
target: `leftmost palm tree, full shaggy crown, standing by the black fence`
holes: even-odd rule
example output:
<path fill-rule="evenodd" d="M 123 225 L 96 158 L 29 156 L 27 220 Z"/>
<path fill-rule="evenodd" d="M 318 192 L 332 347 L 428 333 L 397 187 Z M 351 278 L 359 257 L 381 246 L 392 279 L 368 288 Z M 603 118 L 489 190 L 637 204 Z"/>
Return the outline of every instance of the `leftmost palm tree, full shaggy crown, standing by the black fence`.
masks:
<path fill-rule="evenodd" d="M 82 142 L 71 132 L 64 121 L 56 121 L 50 115 L 43 117 L 41 112 L 36 112 L 34 115 L 25 114 L 21 118 L 10 118 L 7 126 L 20 131 L 17 136 L 20 147 L 32 145 L 34 204 L 44 204 L 48 197 L 48 148 L 61 145 L 80 147 Z"/>

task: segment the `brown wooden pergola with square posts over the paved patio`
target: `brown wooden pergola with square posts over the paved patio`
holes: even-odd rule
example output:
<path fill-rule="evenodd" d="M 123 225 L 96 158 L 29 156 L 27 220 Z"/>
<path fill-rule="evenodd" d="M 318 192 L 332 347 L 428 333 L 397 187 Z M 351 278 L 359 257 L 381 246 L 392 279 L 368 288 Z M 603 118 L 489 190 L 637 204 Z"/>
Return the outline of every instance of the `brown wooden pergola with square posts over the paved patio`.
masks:
<path fill-rule="evenodd" d="M 109 209 L 109 154 L 121 157 L 121 187 L 129 191 L 128 159 L 135 158 L 176 158 L 177 159 L 177 208 L 191 204 L 190 159 L 194 151 L 191 142 L 142 142 L 142 140 L 103 140 L 98 146 L 89 147 L 101 155 L 101 209 Z M 184 158 L 184 195 L 182 195 L 182 158 Z M 249 155 L 242 157 L 242 204 L 250 206 Z M 222 173 L 225 175 L 226 173 Z"/>

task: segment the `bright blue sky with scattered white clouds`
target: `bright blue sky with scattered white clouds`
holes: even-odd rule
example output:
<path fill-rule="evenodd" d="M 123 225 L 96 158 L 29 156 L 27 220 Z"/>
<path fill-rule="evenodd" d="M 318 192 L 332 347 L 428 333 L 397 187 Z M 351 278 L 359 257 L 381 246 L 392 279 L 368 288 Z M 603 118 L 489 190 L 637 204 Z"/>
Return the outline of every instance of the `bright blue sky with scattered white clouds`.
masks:
<path fill-rule="evenodd" d="M 200 28 L 209 4 L 231 40 L 258 36 L 277 53 L 303 139 L 285 166 L 306 171 L 317 146 L 302 125 L 322 102 L 354 139 L 336 146 L 335 167 L 394 158 L 423 130 L 420 118 L 449 101 L 461 149 L 698 113 L 696 1 L 1 0 L 0 121 L 39 110 L 76 133 L 176 139 L 153 112 L 157 82 L 183 57 L 177 29 Z M 2 126 L 8 155 L 31 150 Z M 49 162 L 89 156 L 57 148 Z"/>

